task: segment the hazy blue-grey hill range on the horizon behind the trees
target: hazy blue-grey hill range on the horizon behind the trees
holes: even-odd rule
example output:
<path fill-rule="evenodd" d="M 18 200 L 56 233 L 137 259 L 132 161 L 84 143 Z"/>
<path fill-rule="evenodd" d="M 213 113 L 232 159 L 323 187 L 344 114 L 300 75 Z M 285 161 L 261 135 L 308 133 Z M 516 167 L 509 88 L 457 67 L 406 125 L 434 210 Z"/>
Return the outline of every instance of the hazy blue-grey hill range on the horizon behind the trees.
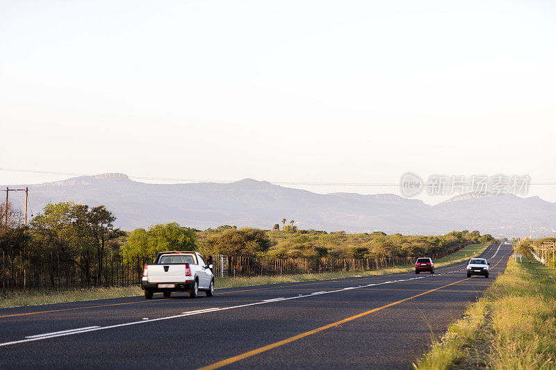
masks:
<path fill-rule="evenodd" d="M 30 189 L 35 213 L 49 202 L 104 204 L 124 230 L 177 221 L 183 226 L 223 224 L 272 228 L 284 217 L 299 228 L 441 234 L 480 230 L 493 235 L 553 235 L 556 203 L 538 196 L 463 194 L 438 205 L 395 194 L 316 194 L 250 178 L 235 183 L 147 184 L 124 174 L 81 176 Z M 17 203 L 20 197 L 12 197 Z"/>

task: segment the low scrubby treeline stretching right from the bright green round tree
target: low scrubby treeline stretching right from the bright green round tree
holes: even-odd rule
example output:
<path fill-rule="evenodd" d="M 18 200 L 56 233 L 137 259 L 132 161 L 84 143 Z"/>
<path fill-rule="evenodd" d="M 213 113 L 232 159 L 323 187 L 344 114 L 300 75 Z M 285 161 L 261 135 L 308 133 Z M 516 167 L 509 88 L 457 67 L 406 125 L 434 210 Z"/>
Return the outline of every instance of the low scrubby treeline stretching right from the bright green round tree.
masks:
<path fill-rule="evenodd" d="M 461 244 L 491 243 L 479 231 L 452 231 L 445 235 L 386 235 L 327 233 L 318 230 L 260 230 L 219 226 L 197 231 L 199 250 L 205 254 L 252 255 L 270 258 L 393 258 L 440 253 Z"/>

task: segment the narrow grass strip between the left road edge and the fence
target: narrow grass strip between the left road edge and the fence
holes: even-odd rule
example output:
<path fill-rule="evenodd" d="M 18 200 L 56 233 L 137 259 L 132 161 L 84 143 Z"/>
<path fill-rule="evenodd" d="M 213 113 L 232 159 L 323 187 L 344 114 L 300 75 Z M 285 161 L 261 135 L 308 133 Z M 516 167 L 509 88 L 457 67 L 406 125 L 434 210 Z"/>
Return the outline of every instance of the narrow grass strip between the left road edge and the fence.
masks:
<path fill-rule="evenodd" d="M 474 253 L 482 253 L 486 249 L 487 244 L 471 244 L 459 251 L 439 258 L 434 262 L 435 267 L 448 266 L 467 260 Z M 468 257 L 465 257 L 465 256 Z M 378 269 L 370 271 L 347 271 L 322 274 L 298 274 L 298 275 L 282 275 L 282 276 L 252 276 L 248 278 L 216 278 L 215 287 L 217 289 L 231 287 L 249 287 L 253 285 L 268 285 L 281 283 L 296 283 L 302 281 L 314 280 L 334 280 L 340 278 L 356 278 L 362 276 L 377 276 L 389 274 L 401 274 L 414 270 L 413 264 L 400 267 L 390 267 L 387 269 Z M 138 286 L 131 287 L 104 287 L 90 289 L 69 289 L 40 292 L 15 292 L 0 294 L 0 308 L 10 308 L 28 305 L 46 305 L 49 303 L 63 303 L 76 301 L 92 301 L 96 299 L 120 298 L 126 296 L 139 296 L 142 290 Z"/>

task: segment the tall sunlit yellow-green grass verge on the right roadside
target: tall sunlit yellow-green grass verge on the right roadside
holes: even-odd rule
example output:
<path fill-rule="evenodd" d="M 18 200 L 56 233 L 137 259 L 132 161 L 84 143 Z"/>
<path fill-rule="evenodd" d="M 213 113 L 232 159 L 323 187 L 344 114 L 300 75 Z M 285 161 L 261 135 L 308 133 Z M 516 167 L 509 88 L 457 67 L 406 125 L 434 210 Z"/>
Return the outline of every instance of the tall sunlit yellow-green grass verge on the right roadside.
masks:
<path fill-rule="evenodd" d="M 509 260 L 415 369 L 556 369 L 556 271 Z"/>

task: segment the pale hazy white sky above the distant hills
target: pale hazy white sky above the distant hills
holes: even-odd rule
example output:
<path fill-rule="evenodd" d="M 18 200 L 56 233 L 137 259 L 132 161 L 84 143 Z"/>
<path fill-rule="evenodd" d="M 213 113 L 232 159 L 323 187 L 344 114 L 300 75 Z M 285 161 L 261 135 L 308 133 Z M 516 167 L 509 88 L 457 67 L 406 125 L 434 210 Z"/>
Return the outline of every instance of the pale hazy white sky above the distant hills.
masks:
<path fill-rule="evenodd" d="M 556 181 L 555 42 L 555 1 L 0 1 L 0 167 Z"/>

